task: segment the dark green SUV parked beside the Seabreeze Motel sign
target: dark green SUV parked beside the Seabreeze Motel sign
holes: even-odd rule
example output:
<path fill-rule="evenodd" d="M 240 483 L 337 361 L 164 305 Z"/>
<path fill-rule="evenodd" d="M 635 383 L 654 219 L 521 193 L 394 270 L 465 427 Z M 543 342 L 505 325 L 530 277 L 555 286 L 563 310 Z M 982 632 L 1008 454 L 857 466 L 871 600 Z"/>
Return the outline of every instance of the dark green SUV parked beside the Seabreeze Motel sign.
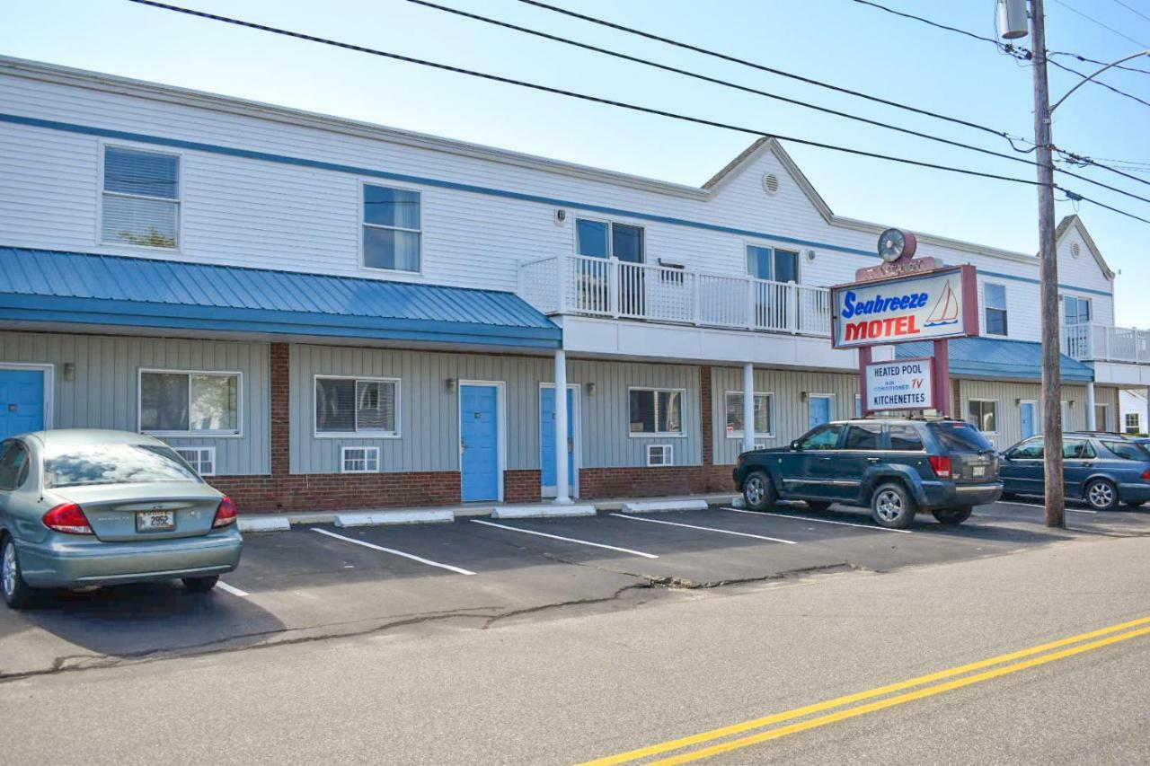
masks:
<path fill-rule="evenodd" d="M 790 446 L 741 454 L 735 484 L 754 511 L 777 499 L 815 511 L 843 503 L 869 507 L 875 523 L 894 529 L 925 511 L 960 524 L 1002 493 L 994 446 L 969 423 L 942 419 L 826 423 Z"/>

